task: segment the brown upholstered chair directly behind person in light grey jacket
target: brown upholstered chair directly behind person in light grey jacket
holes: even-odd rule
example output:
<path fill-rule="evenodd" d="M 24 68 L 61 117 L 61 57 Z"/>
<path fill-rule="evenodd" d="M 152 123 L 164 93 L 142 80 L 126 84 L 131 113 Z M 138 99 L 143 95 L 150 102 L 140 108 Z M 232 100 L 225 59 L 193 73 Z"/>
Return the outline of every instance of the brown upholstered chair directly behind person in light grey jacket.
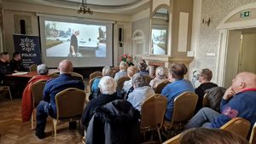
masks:
<path fill-rule="evenodd" d="M 157 130 L 160 143 L 162 143 L 160 129 L 164 121 L 166 106 L 166 96 L 157 94 L 143 101 L 141 110 L 141 133 Z"/>

